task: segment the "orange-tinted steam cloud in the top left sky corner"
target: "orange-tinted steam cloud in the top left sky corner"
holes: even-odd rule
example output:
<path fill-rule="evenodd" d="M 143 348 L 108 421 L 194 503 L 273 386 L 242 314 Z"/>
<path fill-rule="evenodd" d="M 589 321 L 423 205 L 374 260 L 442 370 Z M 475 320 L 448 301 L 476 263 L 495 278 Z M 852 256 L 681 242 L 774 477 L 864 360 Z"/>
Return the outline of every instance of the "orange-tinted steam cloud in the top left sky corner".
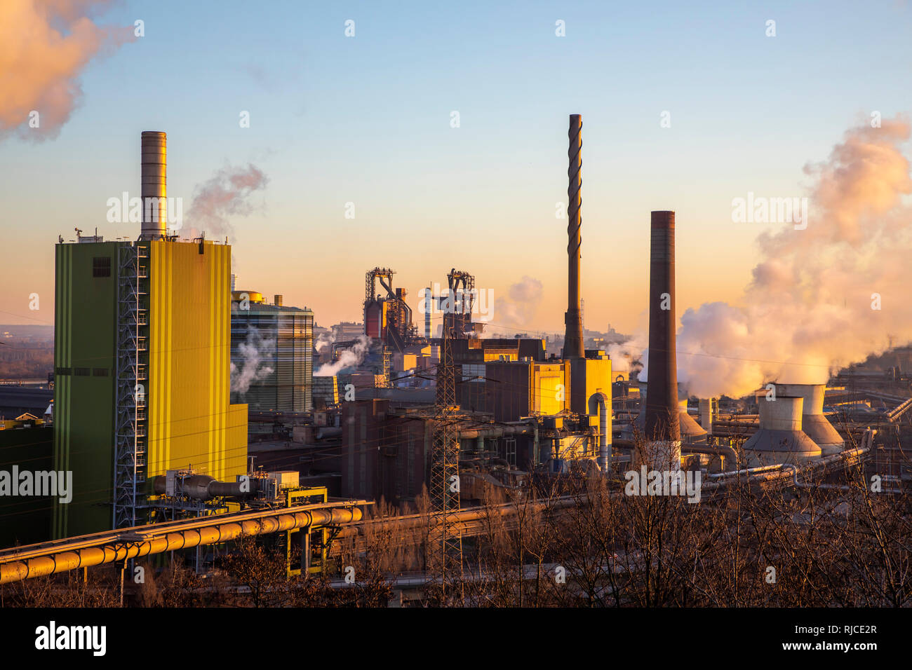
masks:
<path fill-rule="evenodd" d="M 98 55 L 133 41 L 133 26 L 98 26 L 109 0 L 0 3 L 0 139 L 55 138 L 82 97 L 79 75 Z M 38 112 L 38 126 L 29 115 Z"/>

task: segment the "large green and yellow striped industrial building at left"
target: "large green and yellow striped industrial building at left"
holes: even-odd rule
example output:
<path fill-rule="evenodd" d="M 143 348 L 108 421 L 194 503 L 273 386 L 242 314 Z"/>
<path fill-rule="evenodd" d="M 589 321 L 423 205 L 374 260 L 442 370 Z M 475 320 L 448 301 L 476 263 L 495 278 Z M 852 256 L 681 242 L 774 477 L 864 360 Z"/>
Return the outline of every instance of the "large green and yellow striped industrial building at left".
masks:
<path fill-rule="evenodd" d="M 145 481 L 168 469 L 244 474 L 247 408 L 229 397 L 231 247 L 82 238 L 57 244 L 56 263 L 54 468 L 73 472 L 73 500 L 55 502 L 53 536 L 119 525 L 115 500 L 132 486 L 141 507 Z M 130 444 L 125 488 L 118 454 Z"/>

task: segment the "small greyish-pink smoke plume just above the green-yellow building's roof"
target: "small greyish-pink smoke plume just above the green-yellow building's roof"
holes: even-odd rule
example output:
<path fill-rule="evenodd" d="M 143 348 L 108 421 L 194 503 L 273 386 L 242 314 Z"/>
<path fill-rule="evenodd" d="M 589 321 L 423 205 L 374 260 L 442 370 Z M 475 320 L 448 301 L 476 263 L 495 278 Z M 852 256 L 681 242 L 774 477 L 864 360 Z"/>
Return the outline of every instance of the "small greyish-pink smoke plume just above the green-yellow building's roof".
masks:
<path fill-rule="evenodd" d="M 249 216 L 254 211 L 250 196 L 269 182 L 262 170 L 248 163 L 246 168 L 225 167 L 196 187 L 182 237 L 199 237 L 201 231 L 212 237 L 233 234 L 229 216 Z"/>

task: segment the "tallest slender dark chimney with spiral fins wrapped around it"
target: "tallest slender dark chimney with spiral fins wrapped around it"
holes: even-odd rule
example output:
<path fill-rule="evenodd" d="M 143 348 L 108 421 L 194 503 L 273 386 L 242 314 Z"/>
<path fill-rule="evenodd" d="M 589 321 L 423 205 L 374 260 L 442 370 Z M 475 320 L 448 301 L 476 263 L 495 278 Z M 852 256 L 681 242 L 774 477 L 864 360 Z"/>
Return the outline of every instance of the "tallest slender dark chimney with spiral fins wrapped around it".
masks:
<path fill-rule="evenodd" d="M 583 223 L 583 116 L 570 115 L 570 167 L 567 169 L 567 311 L 564 314 L 564 358 L 583 358 L 583 319 L 579 313 L 579 229 Z"/>

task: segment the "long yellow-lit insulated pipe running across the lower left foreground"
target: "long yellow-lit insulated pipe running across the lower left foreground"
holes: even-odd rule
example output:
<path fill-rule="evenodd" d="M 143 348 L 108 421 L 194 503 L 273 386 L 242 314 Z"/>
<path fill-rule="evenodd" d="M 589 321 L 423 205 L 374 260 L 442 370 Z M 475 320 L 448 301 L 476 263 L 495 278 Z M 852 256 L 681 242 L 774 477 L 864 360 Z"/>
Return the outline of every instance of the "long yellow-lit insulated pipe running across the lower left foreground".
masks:
<path fill-rule="evenodd" d="M 232 518 L 233 517 L 233 518 Z M 204 544 L 218 544 L 237 540 L 246 535 L 264 535 L 274 532 L 290 531 L 295 528 L 329 526 L 361 520 L 361 510 L 357 507 L 324 508 L 295 511 L 294 508 L 284 512 L 243 513 L 224 515 L 223 521 L 200 525 L 196 528 L 173 530 L 161 537 L 143 539 L 153 535 L 155 526 L 140 526 L 115 535 L 115 539 L 105 544 L 78 549 L 59 551 L 43 556 L 36 556 L 22 561 L 6 562 L 0 565 L 0 584 L 21 582 L 33 577 L 43 577 L 57 572 L 67 572 L 88 568 L 104 563 L 122 563 L 129 559 L 141 558 L 165 551 L 181 551 Z M 131 531 L 131 532 L 130 532 Z"/>

